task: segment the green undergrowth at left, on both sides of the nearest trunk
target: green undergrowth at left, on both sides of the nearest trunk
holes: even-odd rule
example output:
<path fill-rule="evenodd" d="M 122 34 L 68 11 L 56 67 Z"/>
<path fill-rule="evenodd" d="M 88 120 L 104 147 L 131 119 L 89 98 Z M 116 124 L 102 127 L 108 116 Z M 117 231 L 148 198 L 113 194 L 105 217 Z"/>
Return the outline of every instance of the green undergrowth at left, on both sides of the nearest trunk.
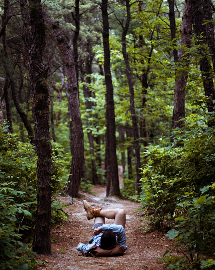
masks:
<path fill-rule="evenodd" d="M 5 123 L 6 124 L 6 123 Z M 33 269 L 36 254 L 31 251 L 36 217 L 36 153 L 30 143 L 8 134 L 0 126 L 0 268 Z M 55 157 L 56 159 L 56 157 Z M 52 160 L 52 194 L 61 191 L 64 161 Z M 52 225 L 67 214 L 62 205 L 52 202 Z"/>

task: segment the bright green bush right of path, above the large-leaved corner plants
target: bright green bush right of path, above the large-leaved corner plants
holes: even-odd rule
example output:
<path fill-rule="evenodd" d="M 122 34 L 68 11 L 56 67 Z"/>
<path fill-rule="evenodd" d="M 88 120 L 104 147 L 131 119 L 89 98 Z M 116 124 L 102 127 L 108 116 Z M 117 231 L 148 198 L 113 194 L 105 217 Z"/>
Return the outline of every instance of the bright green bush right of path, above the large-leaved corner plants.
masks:
<path fill-rule="evenodd" d="M 177 197 L 185 192 L 198 192 L 215 178 L 215 134 L 206 120 L 191 115 L 185 130 L 174 132 L 175 148 L 161 139 L 161 146 L 148 147 L 148 163 L 142 169 L 143 210 L 150 210 L 151 224 L 161 230 L 173 220 Z"/>

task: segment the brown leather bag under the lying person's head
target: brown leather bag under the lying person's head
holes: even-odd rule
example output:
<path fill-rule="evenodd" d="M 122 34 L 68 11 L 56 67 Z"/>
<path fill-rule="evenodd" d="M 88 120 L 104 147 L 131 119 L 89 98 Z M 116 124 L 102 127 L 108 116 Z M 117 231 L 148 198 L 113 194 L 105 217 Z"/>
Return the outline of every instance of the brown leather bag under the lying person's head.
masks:
<path fill-rule="evenodd" d="M 91 257 L 112 257 L 112 256 L 122 256 L 124 255 L 124 247 L 121 245 L 116 245 L 111 249 L 103 249 L 96 245 L 92 246 L 87 253 L 82 253 L 83 256 Z"/>

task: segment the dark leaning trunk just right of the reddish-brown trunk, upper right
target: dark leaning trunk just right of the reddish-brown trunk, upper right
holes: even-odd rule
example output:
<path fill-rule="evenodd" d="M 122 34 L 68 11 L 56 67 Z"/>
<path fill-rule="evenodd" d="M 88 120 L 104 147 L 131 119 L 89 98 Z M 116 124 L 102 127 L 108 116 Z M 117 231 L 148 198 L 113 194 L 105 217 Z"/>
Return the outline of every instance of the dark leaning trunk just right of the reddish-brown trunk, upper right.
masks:
<path fill-rule="evenodd" d="M 190 10 L 192 15 L 192 24 L 193 24 L 193 32 L 195 35 L 199 36 L 203 33 L 203 37 L 201 41 L 198 41 L 198 45 L 201 46 L 199 53 L 201 54 L 200 59 L 200 70 L 203 77 L 203 85 L 205 96 L 207 99 L 207 108 L 208 112 L 214 111 L 214 83 L 212 76 L 212 69 L 210 62 L 207 59 L 207 55 L 204 51 L 204 46 L 207 44 L 207 31 L 206 25 L 204 24 L 204 16 L 202 10 L 202 0 L 190 0 Z M 214 125 L 212 122 L 208 123 L 208 125 Z"/>

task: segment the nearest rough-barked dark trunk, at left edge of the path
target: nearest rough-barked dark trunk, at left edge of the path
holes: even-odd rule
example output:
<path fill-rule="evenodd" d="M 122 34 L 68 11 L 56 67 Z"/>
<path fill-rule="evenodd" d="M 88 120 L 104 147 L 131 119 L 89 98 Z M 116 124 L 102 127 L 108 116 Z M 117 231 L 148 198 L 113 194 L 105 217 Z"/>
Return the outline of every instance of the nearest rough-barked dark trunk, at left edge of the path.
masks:
<path fill-rule="evenodd" d="M 37 160 L 37 215 L 33 251 L 51 253 L 51 143 L 49 137 L 49 86 L 42 62 L 45 25 L 40 0 L 20 0 L 24 24 L 24 43 L 28 54 L 31 106 L 34 121 Z M 30 15 L 30 18 L 29 18 Z"/>

